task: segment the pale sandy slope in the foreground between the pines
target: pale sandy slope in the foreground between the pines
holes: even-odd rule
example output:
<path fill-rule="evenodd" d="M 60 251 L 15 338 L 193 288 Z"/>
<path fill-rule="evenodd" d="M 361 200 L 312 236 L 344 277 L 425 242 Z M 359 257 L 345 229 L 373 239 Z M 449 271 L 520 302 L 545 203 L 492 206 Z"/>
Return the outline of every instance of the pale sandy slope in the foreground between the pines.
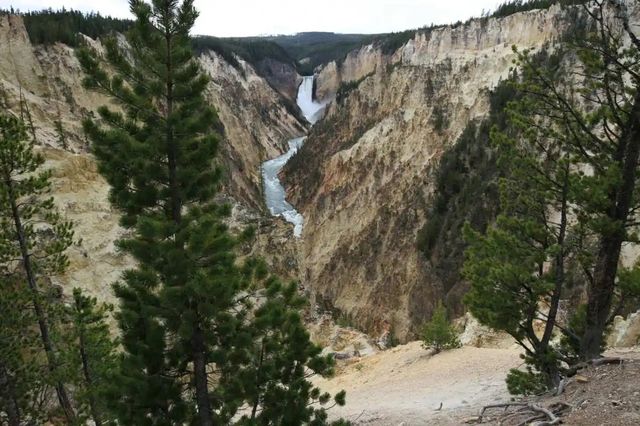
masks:
<path fill-rule="evenodd" d="M 347 391 L 347 404 L 330 416 L 355 425 L 456 425 L 484 405 L 508 400 L 505 376 L 521 363 L 515 347 L 432 356 L 412 342 L 339 365 L 335 377 L 316 383 L 331 393 Z"/>

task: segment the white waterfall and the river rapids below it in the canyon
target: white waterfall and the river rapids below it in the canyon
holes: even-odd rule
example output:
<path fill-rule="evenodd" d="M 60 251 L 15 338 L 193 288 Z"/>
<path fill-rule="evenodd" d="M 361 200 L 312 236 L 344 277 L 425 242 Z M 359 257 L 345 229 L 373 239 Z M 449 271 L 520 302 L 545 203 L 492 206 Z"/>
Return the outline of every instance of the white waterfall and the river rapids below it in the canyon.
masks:
<path fill-rule="evenodd" d="M 296 102 L 302 110 L 304 117 L 314 124 L 324 112 L 324 104 L 313 100 L 313 79 L 312 75 L 303 77 L 302 83 L 298 88 L 298 97 Z M 264 195 L 267 208 L 273 216 L 282 216 L 284 220 L 293 224 L 293 235 L 300 237 L 302 235 L 302 225 L 304 218 L 296 209 L 293 208 L 286 200 L 286 192 L 278 179 L 278 173 L 289 159 L 296 153 L 304 142 L 305 136 L 291 139 L 289 150 L 272 160 L 265 161 L 262 164 L 262 179 L 264 181 Z"/>

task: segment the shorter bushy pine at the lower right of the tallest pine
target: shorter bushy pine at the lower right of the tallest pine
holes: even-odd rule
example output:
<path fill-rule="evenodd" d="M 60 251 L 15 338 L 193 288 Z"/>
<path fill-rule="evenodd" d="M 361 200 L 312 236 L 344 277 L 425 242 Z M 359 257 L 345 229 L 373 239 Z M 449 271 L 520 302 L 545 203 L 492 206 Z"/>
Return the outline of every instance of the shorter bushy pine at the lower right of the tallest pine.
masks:
<path fill-rule="evenodd" d="M 244 399 L 251 407 L 239 424 L 326 424 L 326 411 L 318 407 L 330 402 L 331 395 L 313 386 L 307 376 L 309 368 L 332 374 L 333 359 L 320 356 L 321 349 L 309 344 L 299 313 L 306 300 L 299 296 L 295 283 L 283 286 L 269 277 L 264 286 L 265 300 L 248 328 L 253 349 L 239 370 Z M 344 405 L 345 392 L 335 395 L 333 401 Z"/>

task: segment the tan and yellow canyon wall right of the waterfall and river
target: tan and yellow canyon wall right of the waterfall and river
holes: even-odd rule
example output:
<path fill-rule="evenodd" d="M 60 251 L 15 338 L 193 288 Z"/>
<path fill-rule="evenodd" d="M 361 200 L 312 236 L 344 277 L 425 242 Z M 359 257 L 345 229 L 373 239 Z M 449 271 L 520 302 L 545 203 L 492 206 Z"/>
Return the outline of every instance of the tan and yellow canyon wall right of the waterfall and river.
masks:
<path fill-rule="evenodd" d="M 333 102 L 284 171 L 305 217 L 305 284 L 319 304 L 401 340 L 430 317 L 444 294 L 415 241 L 433 171 L 466 124 L 487 114 L 511 46 L 550 41 L 560 15 L 552 7 L 473 20 L 419 33 L 391 55 L 368 46 L 321 70 L 320 98 L 364 79 Z"/>

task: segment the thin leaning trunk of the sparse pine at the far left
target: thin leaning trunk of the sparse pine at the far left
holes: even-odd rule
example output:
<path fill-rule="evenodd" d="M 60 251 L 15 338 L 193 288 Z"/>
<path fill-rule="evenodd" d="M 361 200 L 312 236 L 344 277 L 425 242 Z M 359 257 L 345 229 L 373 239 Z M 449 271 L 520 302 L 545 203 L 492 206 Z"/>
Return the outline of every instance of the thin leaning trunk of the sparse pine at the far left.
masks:
<path fill-rule="evenodd" d="M 24 235 L 24 228 L 22 226 L 22 220 L 20 218 L 20 212 L 18 211 L 17 201 L 13 192 L 13 182 L 10 178 L 5 178 L 5 185 L 7 186 L 8 198 L 11 204 L 11 214 L 13 216 L 13 223 L 18 237 L 18 243 L 20 245 L 20 255 L 22 258 L 22 265 L 24 267 L 25 275 L 27 277 L 27 283 L 31 291 L 33 308 L 38 318 L 38 327 L 40 328 L 40 336 L 42 339 L 42 345 L 47 356 L 47 364 L 49 371 L 55 371 L 56 369 L 56 355 L 49 335 L 49 325 L 47 324 L 46 314 L 39 300 L 38 284 L 33 272 L 33 266 L 31 265 L 31 254 L 29 253 L 28 244 Z M 71 406 L 71 400 L 64 387 L 64 384 L 58 381 L 55 384 L 56 394 L 60 407 L 64 411 L 64 415 L 69 423 L 72 423 L 75 419 L 75 413 Z"/>

